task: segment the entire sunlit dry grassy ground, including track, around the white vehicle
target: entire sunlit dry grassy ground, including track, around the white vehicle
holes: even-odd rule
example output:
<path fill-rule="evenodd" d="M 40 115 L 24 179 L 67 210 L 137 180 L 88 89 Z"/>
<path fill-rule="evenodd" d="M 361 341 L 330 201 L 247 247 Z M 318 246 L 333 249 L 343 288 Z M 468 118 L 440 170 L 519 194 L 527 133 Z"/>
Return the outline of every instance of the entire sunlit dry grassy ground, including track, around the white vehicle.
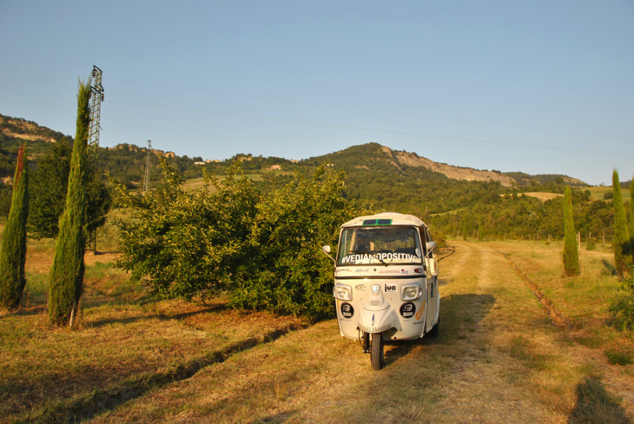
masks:
<path fill-rule="evenodd" d="M 558 243 L 449 246 L 440 337 L 388 344 L 376 372 L 336 320 L 155 299 L 111 247 L 86 257 L 80 330 L 49 328 L 53 243 L 30 242 L 23 306 L 0 312 L 0 421 L 630 422 L 634 342 L 606 325 L 609 251 L 583 249 L 583 275 L 564 278 Z"/>

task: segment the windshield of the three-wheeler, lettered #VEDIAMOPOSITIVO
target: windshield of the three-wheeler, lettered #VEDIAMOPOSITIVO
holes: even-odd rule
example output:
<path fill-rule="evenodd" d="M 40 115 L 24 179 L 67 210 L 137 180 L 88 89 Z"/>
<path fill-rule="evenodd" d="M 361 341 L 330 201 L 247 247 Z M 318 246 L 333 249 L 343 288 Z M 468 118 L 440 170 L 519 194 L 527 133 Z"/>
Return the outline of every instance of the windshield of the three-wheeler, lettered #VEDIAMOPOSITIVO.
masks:
<path fill-rule="evenodd" d="M 421 242 L 414 227 L 356 227 L 341 233 L 338 266 L 422 261 Z"/>

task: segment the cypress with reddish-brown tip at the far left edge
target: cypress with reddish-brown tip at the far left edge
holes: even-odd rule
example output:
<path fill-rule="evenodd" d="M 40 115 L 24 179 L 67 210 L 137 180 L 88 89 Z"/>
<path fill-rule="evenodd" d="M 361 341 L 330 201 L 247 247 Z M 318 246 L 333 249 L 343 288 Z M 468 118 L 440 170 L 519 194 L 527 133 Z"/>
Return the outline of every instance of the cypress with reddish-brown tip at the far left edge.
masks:
<path fill-rule="evenodd" d="M 0 248 L 0 304 L 12 309 L 20 304 L 26 284 L 24 264 L 26 260 L 26 223 L 29 211 L 28 170 L 25 166 L 25 146 L 18 151 L 15 166 L 11 210 L 8 214 L 2 247 Z"/>

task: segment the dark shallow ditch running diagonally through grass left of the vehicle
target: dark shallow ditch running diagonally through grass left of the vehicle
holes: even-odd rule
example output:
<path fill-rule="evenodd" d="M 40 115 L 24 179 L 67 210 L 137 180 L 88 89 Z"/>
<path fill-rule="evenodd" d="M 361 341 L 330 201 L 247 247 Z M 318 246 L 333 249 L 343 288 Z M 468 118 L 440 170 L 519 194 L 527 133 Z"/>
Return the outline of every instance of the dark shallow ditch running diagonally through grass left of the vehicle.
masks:
<path fill-rule="evenodd" d="M 57 401 L 53 404 L 42 406 L 35 412 L 25 413 L 17 418 L 15 422 L 68 423 L 87 420 L 97 416 L 99 413 L 115 409 L 126 401 L 141 397 L 151 389 L 191 378 L 199 370 L 216 363 L 223 363 L 232 355 L 253 349 L 261 344 L 273 342 L 290 332 L 301 330 L 308 326 L 308 324 L 291 323 L 281 328 L 275 328 L 258 337 L 249 337 L 230 344 L 221 351 L 208 351 L 198 358 L 169 370 L 158 373 L 142 373 L 118 385 L 95 389 L 87 394 L 80 394 L 65 401 Z"/>

